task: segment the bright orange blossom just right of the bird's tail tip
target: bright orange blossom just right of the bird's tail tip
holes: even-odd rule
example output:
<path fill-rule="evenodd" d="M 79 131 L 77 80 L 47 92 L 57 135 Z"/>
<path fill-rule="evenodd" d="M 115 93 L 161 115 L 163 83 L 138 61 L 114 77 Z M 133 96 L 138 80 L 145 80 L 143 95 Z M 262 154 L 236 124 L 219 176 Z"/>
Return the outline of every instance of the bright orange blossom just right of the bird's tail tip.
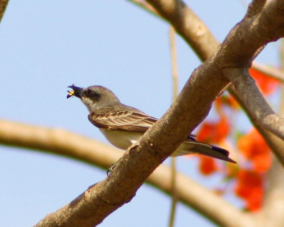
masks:
<path fill-rule="evenodd" d="M 255 171 L 266 172 L 269 169 L 271 165 L 269 147 L 255 128 L 242 136 L 237 146 L 245 158 L 252 162 Z"/>

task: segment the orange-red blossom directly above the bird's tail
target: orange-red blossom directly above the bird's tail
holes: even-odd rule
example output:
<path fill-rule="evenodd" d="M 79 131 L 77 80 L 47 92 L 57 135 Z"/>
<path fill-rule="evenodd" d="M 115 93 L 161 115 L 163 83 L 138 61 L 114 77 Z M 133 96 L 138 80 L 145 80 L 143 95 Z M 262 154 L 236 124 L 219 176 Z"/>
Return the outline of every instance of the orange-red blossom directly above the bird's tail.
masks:
<path fill-rule="evenodd" d="M 216 123 L 203 123 L 197 134 L 197 140 L 207 143 L 219 143 L 229 134 L 229 131 L 229 122 L 225 117 L 221 117 Z"/>

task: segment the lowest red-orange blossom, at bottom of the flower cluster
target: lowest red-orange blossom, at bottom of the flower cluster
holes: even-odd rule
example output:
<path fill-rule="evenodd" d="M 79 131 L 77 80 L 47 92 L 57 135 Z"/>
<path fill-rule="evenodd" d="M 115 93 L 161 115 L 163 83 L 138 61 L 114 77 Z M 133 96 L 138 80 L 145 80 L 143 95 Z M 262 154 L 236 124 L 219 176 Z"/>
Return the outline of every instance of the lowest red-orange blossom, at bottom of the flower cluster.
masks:
<path fill-rule="evenodd" d="M 245 207 L 256 211 L 261 207 L 263 198 L 263 178 L 253 171 L 239 170 L 237 173 L 236 195 L 245 200 Z"/>

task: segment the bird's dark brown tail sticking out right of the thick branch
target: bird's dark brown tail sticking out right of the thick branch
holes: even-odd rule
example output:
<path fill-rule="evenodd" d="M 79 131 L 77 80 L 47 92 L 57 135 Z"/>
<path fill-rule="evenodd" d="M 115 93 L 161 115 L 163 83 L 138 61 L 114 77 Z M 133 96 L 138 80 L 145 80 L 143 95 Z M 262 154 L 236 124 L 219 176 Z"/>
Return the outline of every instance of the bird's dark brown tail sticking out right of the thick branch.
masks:
<path fill-rule="evenodd" d="M 188 139 L 187 141 L 183 142 L 183 144 L 184 145 L 188 144 L 188 147 L 190 148 L 185 148 L 180 151 L 177 150 L 172 154 L 172 156 L 180 156 L 180 155 L 197 153 L 201 155 L 207 155 L 212 158 L 217 158 L 220 160 L 228 161 L 231 163 L 237 163 L 231 158 L 229 158 L 229 151 L 227 151 L 226 149 L 216 147 L 213 145 L 209 145 L 209 144 L 205 144 L 205 143 L 201 143 L 201 142 L 198 142 L 192 139 L 191 140 Z"/>

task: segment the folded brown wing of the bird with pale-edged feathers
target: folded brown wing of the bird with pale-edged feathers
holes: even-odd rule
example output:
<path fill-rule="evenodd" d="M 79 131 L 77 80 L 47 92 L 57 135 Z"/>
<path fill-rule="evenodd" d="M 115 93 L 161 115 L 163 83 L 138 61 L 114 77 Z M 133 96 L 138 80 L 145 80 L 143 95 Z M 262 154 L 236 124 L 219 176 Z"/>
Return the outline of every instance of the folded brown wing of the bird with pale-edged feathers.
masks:
<path fill-rule="evenodd" d="M 131 132 L 146 132 L 158 120 L 138 111 L 108 109 L 92 111 L 88 119 L 98 128 Z"/>

